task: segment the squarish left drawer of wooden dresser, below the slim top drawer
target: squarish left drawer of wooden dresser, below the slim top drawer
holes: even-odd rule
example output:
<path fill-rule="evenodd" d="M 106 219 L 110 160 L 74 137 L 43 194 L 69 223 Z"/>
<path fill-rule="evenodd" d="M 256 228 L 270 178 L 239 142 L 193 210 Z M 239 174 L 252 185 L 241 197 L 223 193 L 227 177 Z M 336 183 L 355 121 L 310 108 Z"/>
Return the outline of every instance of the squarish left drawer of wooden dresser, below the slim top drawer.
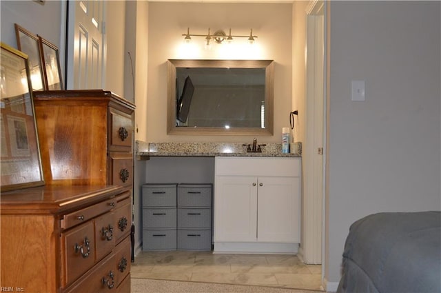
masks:
<path fill-rule="evenodd" d="M 61 233 L 63 286 L 72 283 L 94 265 L 94 223 L 89 221 Z"/>

